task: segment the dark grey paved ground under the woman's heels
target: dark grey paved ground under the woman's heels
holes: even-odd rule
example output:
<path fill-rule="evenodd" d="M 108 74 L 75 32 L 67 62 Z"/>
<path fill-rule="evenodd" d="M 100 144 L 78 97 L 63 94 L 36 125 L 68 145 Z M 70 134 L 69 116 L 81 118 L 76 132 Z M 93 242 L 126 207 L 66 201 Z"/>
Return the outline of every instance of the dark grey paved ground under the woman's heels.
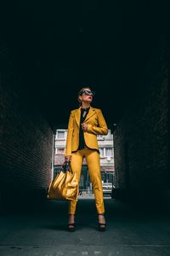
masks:
<path fill-rule="evenodd" d="M 0 216 L 0 255 L 170 255 L 169 209 L 129 206 L 105 198 L 105 232 L 94 198 L 79 198 L 77 230 L 68 232 L 67 202 L 47 201 Z"/>

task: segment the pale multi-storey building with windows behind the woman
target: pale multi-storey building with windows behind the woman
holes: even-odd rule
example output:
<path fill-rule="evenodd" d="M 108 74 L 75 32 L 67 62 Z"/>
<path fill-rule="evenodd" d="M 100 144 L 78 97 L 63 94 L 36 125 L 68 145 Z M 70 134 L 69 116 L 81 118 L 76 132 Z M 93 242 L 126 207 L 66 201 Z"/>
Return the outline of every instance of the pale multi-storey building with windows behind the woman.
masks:
<path fill-rule="evenodd" d="M 65 143 L 67 137 L 66 129 L 56 130 L 55 135 L 55 154 L 54 154 L 54 177 L 57 175 L 65 160 Z M 111 190 L 115 181 L 115 165 L 113 150 L 113 134 L 109 130 L 107 135 L 97 136 L 100 152 L 101 177 L 103 191 L 105 195 L 111 195 Z M 88 174 L 87 162 L 82 162 L 82 173 L 80 181 L 80 194 L 92 194 L 92 184 Z"/>

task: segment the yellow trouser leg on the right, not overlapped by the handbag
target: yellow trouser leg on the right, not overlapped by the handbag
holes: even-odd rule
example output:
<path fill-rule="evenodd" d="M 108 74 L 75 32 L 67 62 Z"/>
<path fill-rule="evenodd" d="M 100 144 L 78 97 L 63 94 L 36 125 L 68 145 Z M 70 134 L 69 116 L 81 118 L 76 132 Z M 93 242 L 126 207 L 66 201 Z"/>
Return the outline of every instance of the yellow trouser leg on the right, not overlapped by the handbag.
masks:
<path fill-rule="evenodd" d="M 86 149 L 86 160 L 88 164 L 88 172 L 92 186 L 94 189 L 95 204 L 98 213 L 105 212 L 104 198 L 103 198 L 103 188 L 100 173 L 100 162 L 99 153 L 95 150 Z"/>

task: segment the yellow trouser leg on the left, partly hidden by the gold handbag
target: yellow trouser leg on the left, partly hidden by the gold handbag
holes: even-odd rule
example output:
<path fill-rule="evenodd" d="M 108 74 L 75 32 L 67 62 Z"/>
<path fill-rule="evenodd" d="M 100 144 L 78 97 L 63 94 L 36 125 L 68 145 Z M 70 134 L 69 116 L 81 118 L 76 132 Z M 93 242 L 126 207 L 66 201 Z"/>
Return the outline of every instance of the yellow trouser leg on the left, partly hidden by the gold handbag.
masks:
<path fill-rule="evenodd" d="M 82 170 L 83 149 L 71 154 L 71 170 L 77 173 L 78 189 Z M 78 193 L 77 193 L 78 195 Z M 77 201 L 69 201 L 68 213 L 75 214 Z"/>

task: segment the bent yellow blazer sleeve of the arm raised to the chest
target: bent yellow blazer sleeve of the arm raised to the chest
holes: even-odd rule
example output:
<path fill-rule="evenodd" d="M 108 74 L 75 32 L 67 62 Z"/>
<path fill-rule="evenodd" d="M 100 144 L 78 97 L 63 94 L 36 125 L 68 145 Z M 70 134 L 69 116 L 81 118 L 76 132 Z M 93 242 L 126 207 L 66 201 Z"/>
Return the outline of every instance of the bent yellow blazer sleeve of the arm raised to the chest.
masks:
<path fill-rule="evenodd" d="M 94 133 L 94 134 L 100 134 L 100 135 L 107 135 L 108 134 L 108 128 L 105 122 L 105 118 L 103 116 L 103 113 L 100 109 L 98 109 L 98 122 L 99 126 L 94 126 L 92 124 L 88 124 L 88 132 Z"/>

